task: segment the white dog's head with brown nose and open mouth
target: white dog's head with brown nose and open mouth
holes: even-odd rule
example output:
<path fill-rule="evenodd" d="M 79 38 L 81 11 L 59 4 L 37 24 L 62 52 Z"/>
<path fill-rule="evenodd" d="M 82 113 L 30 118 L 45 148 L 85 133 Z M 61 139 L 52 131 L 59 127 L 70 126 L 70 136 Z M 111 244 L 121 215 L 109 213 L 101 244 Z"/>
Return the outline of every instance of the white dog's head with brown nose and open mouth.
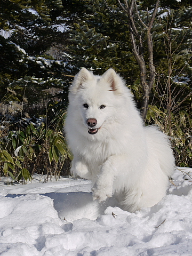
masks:
<path fill-rule="evenodd" d="M 127 88 L 114 69 L 95 76 L 82 68 L 70 87 L 69 102 L 80 110 L 89 134 L 97 134 L 118 119 L 118 111 L 125 100 Z"/>

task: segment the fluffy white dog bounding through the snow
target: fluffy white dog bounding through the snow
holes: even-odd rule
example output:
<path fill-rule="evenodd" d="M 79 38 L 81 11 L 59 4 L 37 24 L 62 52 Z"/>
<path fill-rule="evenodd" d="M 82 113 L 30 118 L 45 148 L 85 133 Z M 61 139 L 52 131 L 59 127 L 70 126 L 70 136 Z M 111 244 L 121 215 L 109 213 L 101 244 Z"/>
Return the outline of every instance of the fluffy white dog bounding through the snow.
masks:
<path fill-rule="evenodd" d="M 83 68 L 69 92 L 65 131 L 71 173 L 92 180 L 93 199 L 116 196 L 134 212 L 166 195 L 174 157 L 166 135 L 144 126 L 132 93 L 113 69 Z"/>

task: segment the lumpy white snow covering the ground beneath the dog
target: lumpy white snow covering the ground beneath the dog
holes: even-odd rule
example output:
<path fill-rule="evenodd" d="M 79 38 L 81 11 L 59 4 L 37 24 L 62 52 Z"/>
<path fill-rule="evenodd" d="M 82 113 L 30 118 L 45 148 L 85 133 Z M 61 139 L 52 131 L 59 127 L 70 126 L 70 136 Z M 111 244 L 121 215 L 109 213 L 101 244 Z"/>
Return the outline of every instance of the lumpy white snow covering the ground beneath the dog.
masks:
<path fill-rule="evenodd" d="M 35 175 L 7 186 L 1 178 L 0 255 L 191 256 L 192 169 L 180 170 L 161 202 L 135 213 L 113 198 L 93 202 L 86 180 L 43 183 Z"/>

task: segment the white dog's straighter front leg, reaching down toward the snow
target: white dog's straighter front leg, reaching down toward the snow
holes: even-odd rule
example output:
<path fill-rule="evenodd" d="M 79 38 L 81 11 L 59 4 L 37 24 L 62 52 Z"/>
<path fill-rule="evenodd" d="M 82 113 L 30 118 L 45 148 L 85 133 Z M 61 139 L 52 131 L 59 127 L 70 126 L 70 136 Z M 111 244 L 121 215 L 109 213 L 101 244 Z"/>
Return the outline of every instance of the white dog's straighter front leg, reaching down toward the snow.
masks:
<path fill-rule="evenodd" d="M 105 163 L 100 166 L 100 172 L 95 182 L 93 191 L 93 200 L 99 202 L 105 201 L 108 197 L 113 196 L 113 184 L 117 175 L 117 156 L 110 156 Z"/>

